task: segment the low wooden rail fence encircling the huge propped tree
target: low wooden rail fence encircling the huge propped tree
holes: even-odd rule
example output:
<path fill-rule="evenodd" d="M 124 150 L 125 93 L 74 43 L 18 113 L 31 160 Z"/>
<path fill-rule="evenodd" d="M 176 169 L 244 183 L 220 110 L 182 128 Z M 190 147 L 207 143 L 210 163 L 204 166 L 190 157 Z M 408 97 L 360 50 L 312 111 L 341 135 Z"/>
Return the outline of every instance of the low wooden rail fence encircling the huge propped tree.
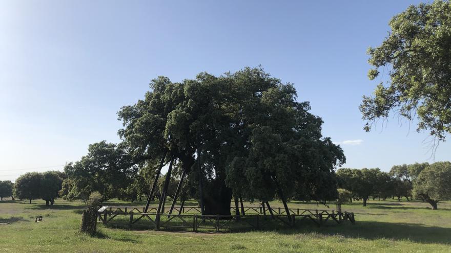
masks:
<path fill-rule="evenodd" d="M 320 226 L 327 221 L 354 224 L 354 213 L 334 210 L 289 209 L 290 217 L 283 208 L 244 207 L 245 215 L 201 215 L 196 206 L 174 206 L 173 213 L 157 213 L 157 207 L 104 206 L 98 210 L 98 220 L 105 225 L 132 228 L 139 222 L 140 228 L 156 230 L 214 231 L 224 232 L 241 229 L 271 229 L 295 227 L 303 220 Z M 231 212 L 235 213 L 235 208 Z M 243 210 L 241 210 L 243 211 Z M 114 219 L 114 221 L 113 221 Z"/>

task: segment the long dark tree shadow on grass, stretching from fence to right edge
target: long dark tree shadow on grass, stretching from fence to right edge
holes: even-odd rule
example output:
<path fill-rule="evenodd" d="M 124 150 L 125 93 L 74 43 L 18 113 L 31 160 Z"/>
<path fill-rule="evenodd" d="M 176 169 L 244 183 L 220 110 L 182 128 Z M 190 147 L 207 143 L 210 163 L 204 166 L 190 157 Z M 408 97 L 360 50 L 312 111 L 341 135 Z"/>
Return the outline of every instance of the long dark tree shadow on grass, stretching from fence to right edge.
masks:
<path fill-rule="evenodd" d="M 318 233 L 321 236 L 341 235 L 350 238 L 363 238 L 368 240 L 393 239 L 407 240 L 419 243 L 451 243 L 451 228 L 425 226 L 418 223 L 390 223 L 377 221 L 356 221 L 356 224 L 324 224 L 317 227 L 304 224 L 296 229 L 283 229 L 280 234 Z"/>

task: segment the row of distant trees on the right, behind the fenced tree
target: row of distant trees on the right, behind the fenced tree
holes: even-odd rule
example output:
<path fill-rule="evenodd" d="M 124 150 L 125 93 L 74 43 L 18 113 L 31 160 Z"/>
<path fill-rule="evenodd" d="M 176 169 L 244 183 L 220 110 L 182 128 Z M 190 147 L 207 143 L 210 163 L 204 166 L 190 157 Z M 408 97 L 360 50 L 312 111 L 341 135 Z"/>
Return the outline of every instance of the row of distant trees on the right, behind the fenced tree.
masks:
<path fill-rule="evenodd" d="M 362 200 L 363 206 L 370 197 L 416 198 L 430 204 L 433 210 L 441 200 L 451 199 L 451 163 L 416 163 L 394 166 L 390 172 L 380 169 L 348 169 L 337 171 L 340 188 L 352 193 L 351 201 Z"/>

